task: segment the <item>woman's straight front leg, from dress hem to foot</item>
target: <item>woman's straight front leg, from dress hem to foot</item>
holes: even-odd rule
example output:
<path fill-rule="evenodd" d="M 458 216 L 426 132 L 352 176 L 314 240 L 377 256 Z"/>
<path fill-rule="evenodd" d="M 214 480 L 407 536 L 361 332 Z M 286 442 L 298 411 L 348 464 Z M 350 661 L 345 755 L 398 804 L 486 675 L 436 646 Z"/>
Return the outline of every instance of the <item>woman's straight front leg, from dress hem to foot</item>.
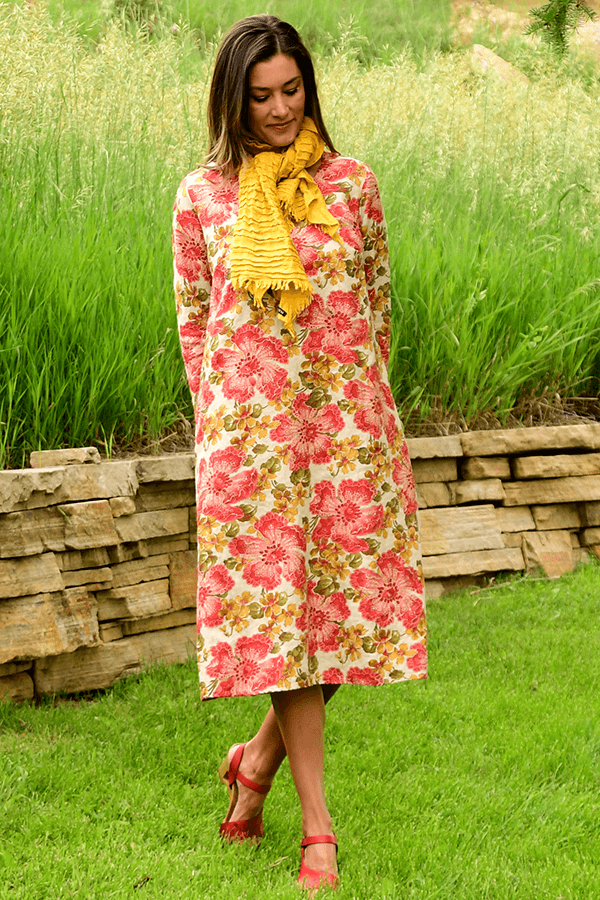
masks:
<path fill-rule="evenodd" d="M 328 692 L 329 697 L 333 692 Z M 329 699 L 328 697 L 328 699 Z M 325 800 L 325 699 L 321 687 L 281 691 L 271 695 L 290 770 L 302 807 L 305 837 L 333 834 Z M 332 844 L 306 848 L 306 865 L 321 872 L 337 872 Z"/>

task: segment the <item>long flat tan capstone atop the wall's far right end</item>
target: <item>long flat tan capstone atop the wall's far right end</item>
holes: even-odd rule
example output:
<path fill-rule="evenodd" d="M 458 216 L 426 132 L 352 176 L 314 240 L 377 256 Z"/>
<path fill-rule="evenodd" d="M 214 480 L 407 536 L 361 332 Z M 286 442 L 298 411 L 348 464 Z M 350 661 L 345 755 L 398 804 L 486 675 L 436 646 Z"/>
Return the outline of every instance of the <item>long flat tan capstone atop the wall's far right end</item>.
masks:
<path fill-rule="evenodd" d="M 535 450 L 600 449 L 600 424 L 468 431 L 461 435 L 465 456 L 504 456 Z"/>

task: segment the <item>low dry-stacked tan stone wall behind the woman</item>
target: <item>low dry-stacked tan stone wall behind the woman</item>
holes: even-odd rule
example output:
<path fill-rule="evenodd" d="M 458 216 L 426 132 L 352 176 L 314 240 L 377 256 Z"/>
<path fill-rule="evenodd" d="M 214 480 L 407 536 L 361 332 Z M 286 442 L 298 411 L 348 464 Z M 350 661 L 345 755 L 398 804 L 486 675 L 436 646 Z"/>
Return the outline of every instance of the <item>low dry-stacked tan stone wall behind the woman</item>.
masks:
<path fill-rule="evenodd" d="M 600 555 L 600 425 L 409 440 L 428 596 Z M 34 453 L 0 472 L 0 698 L 108 687 L 194 652 L 191 453 Z"/>

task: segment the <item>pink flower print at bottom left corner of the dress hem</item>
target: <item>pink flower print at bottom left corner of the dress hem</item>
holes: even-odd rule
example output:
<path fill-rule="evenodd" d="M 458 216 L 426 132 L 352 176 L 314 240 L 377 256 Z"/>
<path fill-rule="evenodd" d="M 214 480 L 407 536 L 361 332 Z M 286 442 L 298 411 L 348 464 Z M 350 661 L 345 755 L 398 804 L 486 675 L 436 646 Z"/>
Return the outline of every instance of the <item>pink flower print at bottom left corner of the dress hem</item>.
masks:
<path fill-rule="evenodd" d="M 283 673 L 283 656 L 267 659 L 273 642 L 264 635 L 241 637 L 235 648 L 225 641 L 211 648 L 212 661 L 206 668 L 219 679 L 214 697 L 247 697 L 274 688 Z"/>

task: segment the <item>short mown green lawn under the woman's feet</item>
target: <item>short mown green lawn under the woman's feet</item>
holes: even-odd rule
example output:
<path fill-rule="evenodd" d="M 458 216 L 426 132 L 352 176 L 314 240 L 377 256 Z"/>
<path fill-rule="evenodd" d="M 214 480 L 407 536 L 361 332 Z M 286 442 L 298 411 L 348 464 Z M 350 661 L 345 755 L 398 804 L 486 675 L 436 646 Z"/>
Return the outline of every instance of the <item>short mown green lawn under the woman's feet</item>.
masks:
<path fill-rule="evenodd" d="M 428 681 L 337 694 L 327 783 L 340 900 L 598 895 L 599 596 L 591 564 L 432 602 Z M 217 838 L 217 765 L 267 703 L 202 705 L 190 663 L 91 702 L 3 706 L 0 897 L 296 897 L 287 764 L 262 847 Z"/>

